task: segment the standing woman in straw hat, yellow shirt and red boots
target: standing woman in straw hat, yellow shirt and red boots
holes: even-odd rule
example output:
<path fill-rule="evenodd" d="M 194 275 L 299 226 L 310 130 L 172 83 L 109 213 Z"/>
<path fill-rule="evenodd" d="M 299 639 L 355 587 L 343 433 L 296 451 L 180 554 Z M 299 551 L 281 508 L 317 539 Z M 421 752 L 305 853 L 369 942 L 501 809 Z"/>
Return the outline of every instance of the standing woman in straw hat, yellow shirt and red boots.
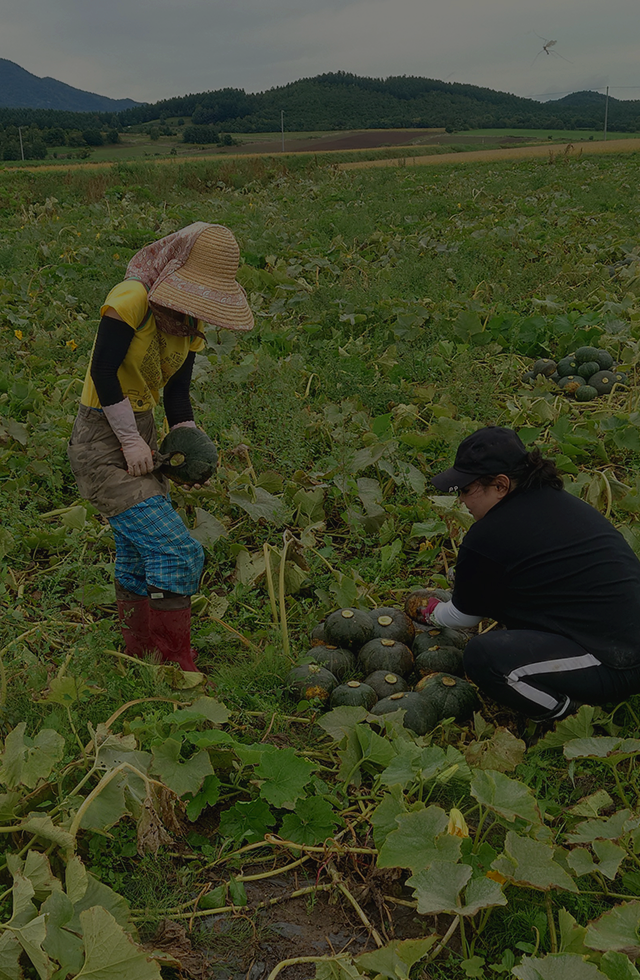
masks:
<path fill-rule="evenodd" d="M 155 650 L 191 671 L 191 595 L 204 553 L 154 470 L 153 410 L 163 390 L 170 428 L 195 427 L 189 388 L 204 325 L 253 327 L 239 254 L 228 228 L 198 221 L 134 255 L 100 309 L 68 449 L 80 492 L 113 529 L 127 652 Z"/>

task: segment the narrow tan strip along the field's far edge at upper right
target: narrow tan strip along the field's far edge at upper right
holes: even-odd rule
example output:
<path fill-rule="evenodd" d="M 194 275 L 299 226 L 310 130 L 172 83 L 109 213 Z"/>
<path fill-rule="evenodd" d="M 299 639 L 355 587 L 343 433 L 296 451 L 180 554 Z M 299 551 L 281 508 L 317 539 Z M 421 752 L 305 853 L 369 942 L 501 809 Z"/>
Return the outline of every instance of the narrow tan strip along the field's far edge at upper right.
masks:
<path fill-rule="evenodd" d="M 529 160 L 534 157 L 570 156 L 583 153 L 636 153 L 640 139 L 589 140 L 584 143 L 554 143 L 539 146 L 514 146 L 498 150 L 469 150 L 466 153 L 438 153 L 434 156 L 400 157 L 395 160 L 358 160 L 339 163 L 340 170 L 359 170 L 363 167 L 422 167 L 428 163 L 491 163 L 492 160 Z"/>

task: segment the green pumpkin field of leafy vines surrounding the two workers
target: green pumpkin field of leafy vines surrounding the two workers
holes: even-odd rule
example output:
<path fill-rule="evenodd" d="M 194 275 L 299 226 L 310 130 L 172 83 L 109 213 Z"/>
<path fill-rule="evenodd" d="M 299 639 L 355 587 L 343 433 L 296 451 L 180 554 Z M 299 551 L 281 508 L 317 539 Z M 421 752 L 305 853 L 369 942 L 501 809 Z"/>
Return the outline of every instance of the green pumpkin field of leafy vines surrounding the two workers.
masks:
<path fill-rule="evenodd" d="M 637 697 L 418 737 L 284 690 L 330 610 L 446 586 L 470 517 L 429 475 L 479 425 L 640 554 L 636 157 L 5 170 L 0 213 L 0 976 L 639 977 Z M 66 443 L 106 292 L 195 220 L 235 231 L 256 328 L 197 361 L 187 681 L 123 654 Z M 522 383 L 590 343 L 628 385 Z"/>

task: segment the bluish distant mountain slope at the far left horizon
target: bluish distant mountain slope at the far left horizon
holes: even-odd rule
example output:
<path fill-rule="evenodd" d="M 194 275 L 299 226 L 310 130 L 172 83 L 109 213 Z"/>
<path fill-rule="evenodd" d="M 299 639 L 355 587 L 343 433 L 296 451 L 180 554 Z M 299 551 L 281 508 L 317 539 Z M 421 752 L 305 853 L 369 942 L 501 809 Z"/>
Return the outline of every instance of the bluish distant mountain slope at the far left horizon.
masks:
<path fill-rule="evenodd" d="M 121 112 L 142 103 L 133 99 L 108 99 L 83 92 L 55 78 L 38 78 L 13 61 L 0 58 L 0 107 L 64 109 L 67 112 Z"/>

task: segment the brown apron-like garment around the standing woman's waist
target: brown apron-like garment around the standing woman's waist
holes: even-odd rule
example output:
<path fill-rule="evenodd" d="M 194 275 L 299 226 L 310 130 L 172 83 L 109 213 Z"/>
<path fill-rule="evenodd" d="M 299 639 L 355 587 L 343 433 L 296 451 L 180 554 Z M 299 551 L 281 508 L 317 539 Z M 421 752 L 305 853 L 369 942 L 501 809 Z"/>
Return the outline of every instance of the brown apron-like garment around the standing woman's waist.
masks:
<path fill-rule="evenodd" d="M 138 432 L 153 451 L 158 448 L 153 412 L 136 412 Z M 160 472 L 129 476 L 120 448 L 103 412 L 80 405 L 67 447 L 81 495 L 103 515 L 115 517 L 142 500 L 169 493 Z"/>

